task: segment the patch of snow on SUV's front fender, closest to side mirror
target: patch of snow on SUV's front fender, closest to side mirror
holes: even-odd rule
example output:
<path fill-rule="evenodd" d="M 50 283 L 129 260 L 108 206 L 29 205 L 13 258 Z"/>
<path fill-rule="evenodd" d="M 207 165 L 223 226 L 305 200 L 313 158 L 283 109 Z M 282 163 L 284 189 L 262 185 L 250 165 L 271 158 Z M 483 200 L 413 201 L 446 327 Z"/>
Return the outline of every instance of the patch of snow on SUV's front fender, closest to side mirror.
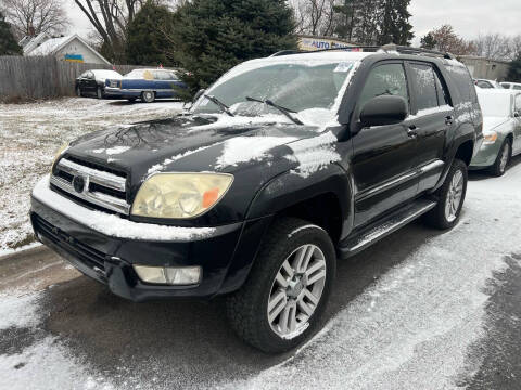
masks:
<path fill-rule="evenodd" d="M 298 162 L 292 173 L 308 178 L 310 174 L 327 168 L 331 162 L 340 161 L 340 154 L 335 151 L 338 141 L 336 136 L 328 131 L 321 135 L 289 144 L 288 146 L 293 151 L 293 154 L 285 156 L 285 158 Z"/>

